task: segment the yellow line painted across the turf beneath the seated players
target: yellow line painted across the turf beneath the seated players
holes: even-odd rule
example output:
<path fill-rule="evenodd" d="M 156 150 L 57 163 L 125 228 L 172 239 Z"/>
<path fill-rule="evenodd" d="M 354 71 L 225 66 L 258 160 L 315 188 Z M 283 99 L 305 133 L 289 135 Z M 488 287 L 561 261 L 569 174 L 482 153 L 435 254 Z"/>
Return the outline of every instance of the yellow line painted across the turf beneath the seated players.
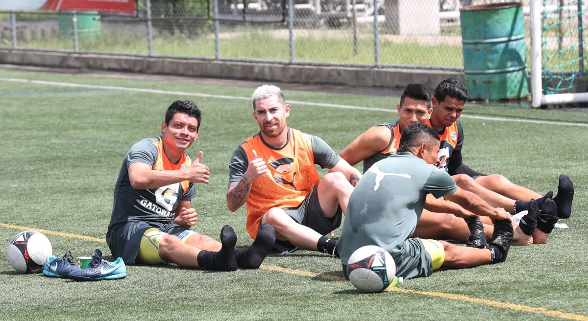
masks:
<path fill-rule="evenodd" d="M 21 227 L 18 225 L 5 224 L 5 223 L 0 223 L 0 227 L 19 229 L 21 231 L 33 229 L 33 230 L 41 232 L 43 234 L 63 236 L 66 238 L 83 239 L 86 241 L 106 242 L 106 239 L 103 239 L 103 238 L 93 238 L 92 236 L 86 236 L 86 235 L 78 235 L 78 234 L 64 233 L 64 232 L 58 232 L 58 231 L 49 231 L 48 229 Z M 319 279 L 324 279 L 324 280 L 329 280 L 329 281 L 346 281 L 346 279 L 342 278 L 341 276 L 323 274 L 323 273 L 314 273 L 314 272 L 308 272 L 308 271 L 302 271 L 302 270 L 296 270 L 296 269 L 282 268 L 281 266 L 276 266 L 276 265 L 262 264 L 259 268 L 269 270 L 269 271 L 282 272 L 282 273 L 286 273 L 286 274 L 290 274 L 290 275 L 305 276 L 307 278 L 319 278 Z M 459 294 L 417 291 L 417 290 L 409 290 L 409 289 L 403 289 L 403 288 L 398 288 L 398 287 L 387 288 L 386 291 L 387 292 L 415 293 L 418 295 L 436 296 L 438 298 L 443 298 L 443 299 L 465 301 L 465 302 L 470 302 L 470 303 L 495 306 L 496 308 L 519 310 L 522 312 L 530 312 L 530 313 L 539 313 L 542 315 L 559 317 L 560 319 L 588 321 L 588 316 L 584 316 L 584 315 L 576 315 L 573 313 L 566 313 L 566 312 L 560 312 L 560 311 L 555 311 L 555 310 L 547 310 L 544 308 L 535 308 L 533 306 L 517 305 L 514 303 L 505 303 L 505 302 L 499 302 L 499 301 L 494 301 L 494 300 L 470 298 L 469 296 L 459 295 Z"/>

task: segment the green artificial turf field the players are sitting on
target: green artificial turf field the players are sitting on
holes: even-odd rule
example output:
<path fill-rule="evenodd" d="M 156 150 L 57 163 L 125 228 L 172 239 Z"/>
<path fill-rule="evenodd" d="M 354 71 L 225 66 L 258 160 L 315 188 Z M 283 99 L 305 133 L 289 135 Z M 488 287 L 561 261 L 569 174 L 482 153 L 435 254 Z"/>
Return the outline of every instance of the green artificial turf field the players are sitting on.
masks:
<path fill-rule="evenodd" d="M 19 231 L 36 229 L 56 256 L 100 248 L 113 261 L 104 238 L 122 159 L 133 143 L 160 133 L 165 109 L 178 99 L 194 100 L 203 111 L 188 153 L 194 158 L 202 150 L 202 163 L 211 168 L 211 183 L 197 185 L 193 200 L 196 211 L 208 212 L 195 229 L 218 239 L 230 224 L 238 246 L 250 244 L 245 207 L 230 212 L 225 195 L 234 148 L 259 130 L 249 97 L 260 84 L 145 79 L 0 66 L 4 248 Z M 288 125 L 336 151 L 370 126 L 397 119 L 398 97 L 284 93 L 292 105 Z M 505 263 L 439 271 L 377 294 L 359 293 L 343 281 L 338 259 L 312 251 L 270 254 L 258 270 L 127 266 L 125 279 L 73 282 L 18 274 L 2 250 L 0 319 L 588 320 L 588 113 L 466 104 L 461 120 L 470 167 L 503 174 L 540 194 L 556 190 L 559 174 L 572 178 L 572 217 L 560 220 L 568 229 L 554 229 L 545 245 L 511 247 Z"/>

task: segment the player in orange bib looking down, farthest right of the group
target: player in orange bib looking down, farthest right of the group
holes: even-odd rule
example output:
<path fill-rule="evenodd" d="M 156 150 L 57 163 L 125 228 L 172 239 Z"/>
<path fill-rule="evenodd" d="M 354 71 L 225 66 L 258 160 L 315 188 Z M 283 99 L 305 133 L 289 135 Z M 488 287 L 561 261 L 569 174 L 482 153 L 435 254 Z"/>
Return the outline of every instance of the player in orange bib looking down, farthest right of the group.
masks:
<path fill-rule="evenodd" d="M 458 119 L 462 114 L 463 105 L 468 97 L 469 93 L 467 92 L 466 86 L 455 78 L 443 80 L 435 89 L 435 94 L 432 98 L 433 108 L 427 124 L 439 133 L 440 167 L 445 169 L 450 175 L 467 174 L 475 178 L 476 183 L 487 188 L 487 190 L 495 191 L 513 200 L 518 200 L 515 205 L 515 212 L 529 210 L 529 203 L 524 202 L 528 202 L 531 199 L 537 200 L 537 205 L 542 209 L 544 201 L 552 198 L 552 192 L 548 192 L 542 197 L 542 195 L 528 188 L 513 184 L 503 175 L 481 174 L 467 167 L 466 164 L 463 164 L 463 127 Z M 572 180 L 567 175 L 560 175 L 557 195 L 553 197 L 553 201 L 557 207 L 557 217 L 570 217 L 573 197 L 574 186 Z M 557 217 L 552 219 L 557 219 Z"/>

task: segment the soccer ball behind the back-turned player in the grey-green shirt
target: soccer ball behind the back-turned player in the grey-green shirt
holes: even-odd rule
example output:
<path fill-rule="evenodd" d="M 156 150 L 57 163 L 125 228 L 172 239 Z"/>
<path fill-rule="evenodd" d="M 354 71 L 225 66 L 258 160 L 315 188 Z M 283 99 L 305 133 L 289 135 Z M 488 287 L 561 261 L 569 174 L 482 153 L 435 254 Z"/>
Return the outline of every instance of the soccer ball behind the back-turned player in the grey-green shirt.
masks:
<path fill-rule="evenodd" d="M 356 249 L 347 262 L 349 281 L 361 292 L 382 292 L 393 281 L 395 274 L 396 263 L 392 255 L 376 245 Z"/>

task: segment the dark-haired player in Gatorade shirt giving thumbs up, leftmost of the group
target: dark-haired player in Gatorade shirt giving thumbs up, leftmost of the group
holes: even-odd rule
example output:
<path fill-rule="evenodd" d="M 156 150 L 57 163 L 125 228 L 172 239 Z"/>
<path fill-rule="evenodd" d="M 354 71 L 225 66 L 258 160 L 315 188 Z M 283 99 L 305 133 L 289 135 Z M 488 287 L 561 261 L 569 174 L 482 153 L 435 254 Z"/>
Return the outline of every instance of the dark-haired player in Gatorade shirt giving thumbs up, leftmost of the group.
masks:
<path fill-rule="evenodd" d="M 106 242 L 112 255 L 127 264 L 173 262 L 183 268 L 235 271 L 259 268 L 275 241 L 273 228 L 249 248 L 235 248 L 229 225 L 220 242 L 198 234 L 192 208 L 196 183 L 208 184 L 209 169 L 202 151 L 191 161 L 186 149 L 198 138 L 202 113 L 189 100 L 173 102 L 161 124 L 161 136 L 135 143 L 126 153 L 114 191 Z"/>

